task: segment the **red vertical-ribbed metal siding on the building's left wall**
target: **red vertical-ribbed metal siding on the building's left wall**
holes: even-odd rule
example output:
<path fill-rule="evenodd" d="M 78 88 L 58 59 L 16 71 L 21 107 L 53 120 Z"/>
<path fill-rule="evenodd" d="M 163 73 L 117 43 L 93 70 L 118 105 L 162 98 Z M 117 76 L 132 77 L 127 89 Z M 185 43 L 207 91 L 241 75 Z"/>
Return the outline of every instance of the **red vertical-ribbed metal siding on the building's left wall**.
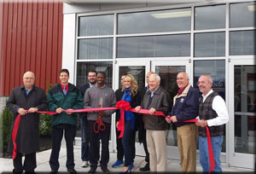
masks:
<path fill-rule="evenodd" d="M 46 90 L 58 81 L 62 60 L 62 3 L 0 3 L 0 96 L 32 71 Z"/>

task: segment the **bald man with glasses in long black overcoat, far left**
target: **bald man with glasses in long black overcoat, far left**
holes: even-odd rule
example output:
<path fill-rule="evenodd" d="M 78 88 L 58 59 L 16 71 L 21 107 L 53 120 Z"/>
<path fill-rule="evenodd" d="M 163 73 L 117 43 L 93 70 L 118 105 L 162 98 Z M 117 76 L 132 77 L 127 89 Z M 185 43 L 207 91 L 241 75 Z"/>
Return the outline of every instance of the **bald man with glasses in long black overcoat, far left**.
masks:
<path fill-rule="evenodd" d="M 23 85 L 12 90 L 6 104 L 9 111 L 14 113 L 9 141 L 9 152 L 13 152 L 12 131 L 17 115 L 20 114 L 16 143 L 17 155 L 13 161 L 14 173 L 34 172 L 37 167 L 36 151 L 39 149 L 39 113 L 48 107 L 44 90 L 34 85 L 35 75 L 26 72 L 23 75 Z M 22 155 L 25 154 L 22 165 Z"/>

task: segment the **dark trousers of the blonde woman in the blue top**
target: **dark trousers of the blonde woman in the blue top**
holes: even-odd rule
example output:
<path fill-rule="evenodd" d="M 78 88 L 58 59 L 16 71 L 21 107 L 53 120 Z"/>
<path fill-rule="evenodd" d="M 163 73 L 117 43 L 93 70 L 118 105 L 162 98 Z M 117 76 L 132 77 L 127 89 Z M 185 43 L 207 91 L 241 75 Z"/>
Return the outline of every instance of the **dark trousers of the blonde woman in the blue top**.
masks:
<path fill-rule="evenodd" d="M 131 164 L 135 158 L 135 136 L 136 131 L 131 129 L 131 121 L 125 120 L 125 131 L 122 138 L 122 143 L 125 152 L 125 166 Z"/>

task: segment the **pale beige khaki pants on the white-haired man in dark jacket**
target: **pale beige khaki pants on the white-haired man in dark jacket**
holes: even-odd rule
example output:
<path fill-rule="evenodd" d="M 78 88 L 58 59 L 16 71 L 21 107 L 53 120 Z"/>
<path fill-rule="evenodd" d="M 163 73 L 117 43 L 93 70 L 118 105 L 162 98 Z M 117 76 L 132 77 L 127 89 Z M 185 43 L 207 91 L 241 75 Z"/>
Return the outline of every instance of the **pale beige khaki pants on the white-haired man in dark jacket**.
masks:
<path fill-rule="evenodd" d="M 147 130 L 150 171 L 166 171 L 166 131 Z"/>

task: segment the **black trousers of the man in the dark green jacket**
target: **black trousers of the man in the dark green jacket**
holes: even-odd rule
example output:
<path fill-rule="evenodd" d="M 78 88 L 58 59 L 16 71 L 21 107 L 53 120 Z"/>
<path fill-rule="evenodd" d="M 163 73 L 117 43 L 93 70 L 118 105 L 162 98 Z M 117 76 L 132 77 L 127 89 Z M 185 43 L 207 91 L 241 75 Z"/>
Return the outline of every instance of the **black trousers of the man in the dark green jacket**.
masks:
<path fill-rule="evenodd" d="M 74 169 L 73 141 L 76 136 L 76 126 L 61 124 L 52 127 L 52 149 L 49 158 L 49 165 L 52 171 L 58 171 L 60 167 L 59 154 L 61 150 L 61 140 L 64 132 L 67 148 L 67 169 Z"/>

